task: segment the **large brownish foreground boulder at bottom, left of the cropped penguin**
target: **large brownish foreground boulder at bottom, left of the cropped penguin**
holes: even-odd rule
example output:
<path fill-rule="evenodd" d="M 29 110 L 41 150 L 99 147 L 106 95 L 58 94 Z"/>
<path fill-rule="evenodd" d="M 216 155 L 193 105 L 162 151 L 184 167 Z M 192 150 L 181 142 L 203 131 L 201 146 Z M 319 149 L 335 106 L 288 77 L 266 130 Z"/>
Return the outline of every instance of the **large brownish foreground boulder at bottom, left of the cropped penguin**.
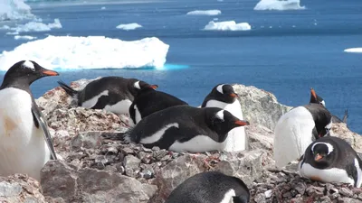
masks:
<path fill-rule="evenodd" d="M 65 202 L 148 202 L 157 186 L 95 169 L 73 170 L 63 161 L 48 161 L 42 170 L 43 194 Z"/>

